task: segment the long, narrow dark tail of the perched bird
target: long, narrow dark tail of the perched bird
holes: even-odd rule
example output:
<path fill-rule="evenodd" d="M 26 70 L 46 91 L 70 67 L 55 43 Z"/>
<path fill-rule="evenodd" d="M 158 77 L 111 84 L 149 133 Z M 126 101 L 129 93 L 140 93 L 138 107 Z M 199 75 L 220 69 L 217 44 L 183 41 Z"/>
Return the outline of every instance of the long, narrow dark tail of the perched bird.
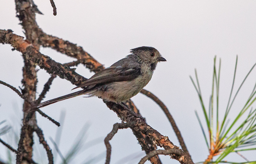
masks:
<path fill-rule="evenodd" d="M 42 107 L 45 107 L 45 106 L 53 104 L 53 103 L 57 103 L 57 102 L 62 101 L 62 100 L 66 100 L 66 99 L 69 99 L 69 98 L 72 98 L 72 97 L 83 95 L 85 93 L 86 92 L 84 90 L 79 90 L 77 92 L 70 93 L 70 94 L 65 95 L 65 96 L 60 96 L 60 97 L 54 98 L 52 100 L 45 101 L 43 103 L 40 103 L 40 104 L 34 106 L 34 108 L 42 108 Z"/>

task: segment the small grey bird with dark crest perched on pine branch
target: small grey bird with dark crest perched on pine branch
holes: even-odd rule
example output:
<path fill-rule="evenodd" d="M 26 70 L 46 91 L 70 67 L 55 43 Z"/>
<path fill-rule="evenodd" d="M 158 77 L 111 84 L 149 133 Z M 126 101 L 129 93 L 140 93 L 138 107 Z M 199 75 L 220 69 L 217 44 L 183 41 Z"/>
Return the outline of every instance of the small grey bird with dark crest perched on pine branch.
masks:
<path fill-rule="evenodd" d="M 115 103 L 129 100 L 148 84 L 157 63 L 166 61 L 154 47 L 141 46 L 131 49 L 130 53 L 74 88 L 83 90 L 39 103 L 35 107 L 42 108 L 79 95 L 97 96 Z"/>

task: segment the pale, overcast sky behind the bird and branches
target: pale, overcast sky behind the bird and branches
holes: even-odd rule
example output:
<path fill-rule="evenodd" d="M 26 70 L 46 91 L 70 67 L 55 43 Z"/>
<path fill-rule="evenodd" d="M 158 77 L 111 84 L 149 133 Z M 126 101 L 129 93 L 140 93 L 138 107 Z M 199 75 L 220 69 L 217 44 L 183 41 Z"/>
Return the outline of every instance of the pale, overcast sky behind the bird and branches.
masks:
<path fill-rule="evenodd" d="M 208 106 L 213 59 L 216 55 L 219 63 L 221 58 L 220 112 L 223 114 L 232 85 L 236 55 L 238 55 L 238 64 L 235 90 L 256 62 L 255 1 L 55 0 L 57 16 L 53 16 L 49 1 L 34 2 L 44 13 L 44 15 L 36 14 L 37 24 L 44 32 L 82 46 L 105 67 L 124 58 L 132 48 L 155 47 L 167 62 L 158 64 L 145 89 L 154 93 L 166 104 L 180 129 L 193 161 L 200 162 L 207 158 L 208 150 L 195 110 L 198 111 L 201 120 L 204 120 L 203 112 L 189 75 L 194 78 L 194 69 L 197 69 L 203 99 Z M 0 29 L 11 29 L 15 34 L 25 37 L 20 22 L 15 17 L 14 0 L 0 0 L 0 4 Z M 22 87 L 23 60 L 20 52 L 12 52 L 11 49 L 10 45 L 0 45 L 0 80 L 19 88 Z M 74 61 L 50 48 L 41 48 L 40 52 L 60 63 Z M 87 78 L 93 75 L 82 65 L 77 67 L 76 72 Z M 38 94 L 49 77 L 50 75 L 44 70 L 38 71 Z M 254 70 L 236 98 L 229 115 L 231 121 L 241 110 L 255 81 Z M 56 78 L 44 100 L 69 94 L 74 87 L 70 82 Z M 7 120 L 4 125 L 12 125 L 14 130 L 19 131 L 23 101 L 3 85 L 0 85 L 0 91 L 0 122 Z M 169 121 L 156 103 L 142 94 L 134 96 L 132 100 L 146 118 L 148 125 L 168 136 L 174 145 L 179 146 Z M 106 148 L 103 139 L 112 130 L 113 124 L 121 121 L 101 99 L 78 96 L 44 107 L 42 111 L 57 121 L 60 121 L 61 111 L 66 111 L 59 147 L 63 155 L 72 147 L 85 123 L 90 125 L 87 127 L 85 142 L 101 137 L 98 145 L 78 154 L 72 163 L 82 163 L 101 153 L 103 156 L 101 155 L 102 160 L 99 163 L 105 162 Z M 54 149 L 49 137 L 55 138 L 57 126 L 39 114 L 37 120 L 45 139 Z M 12 137 L 10 132 L 9 135 L 1 136 L 1 139 L 17 148 Z M 35 142 L 38 140 L 36 139 Z M 130 129 L 119 130 L 110 144 L 112 164 L 138 163 L 145 155 Z M 44 152 L 42 146 L 40 149 Z M 255 152 L 242 152 L 242 154 L 249 160 L 255 160 Z M 128 155 L 130 156 L 124 159 Z M 6 149 L 1 144 L 0 158 L 7 159 Z M 60 157 L 55 158 L 57 160 L 55 163 L 60 163 Z M 160 158 L 163 164 L 179 163 L 170 160 L 169 156 L 160 155 Z M 35 153 L 34 159 L 38 163 L 41 161 L 47 163 L 46 154 L 40 157 Z M 237 154 L 230 155 L 225 160 L 244 161 Z"/>

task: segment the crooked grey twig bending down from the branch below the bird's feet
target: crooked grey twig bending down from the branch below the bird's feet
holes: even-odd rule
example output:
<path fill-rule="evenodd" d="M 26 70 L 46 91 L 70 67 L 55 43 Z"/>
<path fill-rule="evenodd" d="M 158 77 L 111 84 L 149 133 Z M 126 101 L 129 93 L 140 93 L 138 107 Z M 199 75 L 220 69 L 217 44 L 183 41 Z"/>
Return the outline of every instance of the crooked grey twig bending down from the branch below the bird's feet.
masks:
<path fill-rule="evenodd" d="M 107 148 L 107 157 L 106 157 L 106 162 L 105 164 L 109 164 L 110 162 L 110 155 L 111 155 L 111 145 L 109 143 L 109 140 L 111 140 L 114 135 L 117 133 L 118 129 L 126 129 L 128 127 L 130 127 L 132 124 L 134 124 L 133 122 L 131 123 L 116 123 L 113 125 L 113 129 L 110 133 L 108 133 L 107 137 L 104 139 L 106 148 Z"/>

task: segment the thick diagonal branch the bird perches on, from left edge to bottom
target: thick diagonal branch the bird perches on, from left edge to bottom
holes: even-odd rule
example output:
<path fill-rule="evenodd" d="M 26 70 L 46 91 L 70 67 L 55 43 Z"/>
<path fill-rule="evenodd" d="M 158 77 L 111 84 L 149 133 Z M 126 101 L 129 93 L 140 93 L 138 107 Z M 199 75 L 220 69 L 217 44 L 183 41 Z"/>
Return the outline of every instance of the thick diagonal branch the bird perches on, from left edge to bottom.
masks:
<path fill-rule="evenodd" d="M 57 63 L 48 56 L 41 54 L 31 44 L 24 41 L 22 37 L 12 34 L 12 31 L 10 30 L 0 30 L 0 42 L 11 44 L 14 48 L 22 52 L 26 59 L 36 62 L 40 68 L 45 69 L 50 74 L 54 73 L 60 76 L 60 78 L 65 78 L 75 85 L 79 85 L 86 80 L 86 78 L 78 75 L 69 67 Z M 161 135 L 155 129 L 147 125 L 141 118 L 135 118 L 131 115 L 131 112 L 124 109 L 120 104 L 107 101 L 104 101 L 104 103 L 107 104 L 109 109 L 115 111 L 122 121 L 135 122 L 136 126 L 131 129 L 146 153 L 155 150 L 153 145 L 163 146 L 164 149 L 177 148 L 177 146 L 172 144 L 168 137 Z M 179 160 L 175 156 L 172 158 Z M 192 162 L 192 160 L 184 156 L 184 161 L 181 162 L 188 163 Z"/>

